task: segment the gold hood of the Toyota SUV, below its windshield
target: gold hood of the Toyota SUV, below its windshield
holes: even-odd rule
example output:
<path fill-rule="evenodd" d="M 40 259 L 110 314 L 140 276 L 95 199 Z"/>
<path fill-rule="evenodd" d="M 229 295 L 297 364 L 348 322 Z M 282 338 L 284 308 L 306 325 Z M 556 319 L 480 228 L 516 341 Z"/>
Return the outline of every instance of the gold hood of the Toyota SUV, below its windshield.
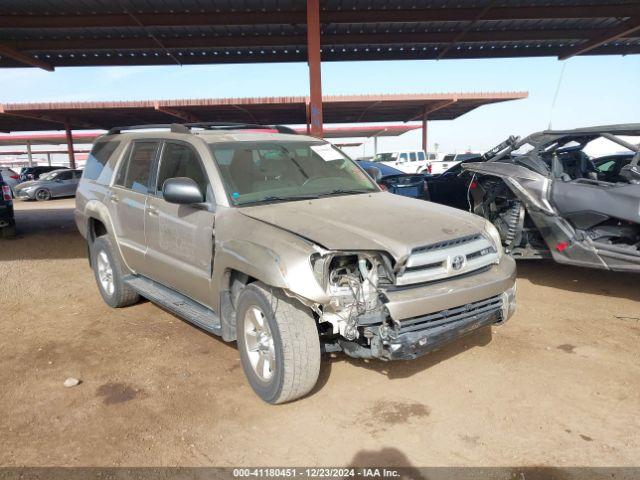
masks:
<path fill-rule="evenodd" d="M 481 233 L 476 215 L 377 192 L 244 207 L 242 214 L 329 250 L 382 250 L 396 260 L 412 248 Z"/>

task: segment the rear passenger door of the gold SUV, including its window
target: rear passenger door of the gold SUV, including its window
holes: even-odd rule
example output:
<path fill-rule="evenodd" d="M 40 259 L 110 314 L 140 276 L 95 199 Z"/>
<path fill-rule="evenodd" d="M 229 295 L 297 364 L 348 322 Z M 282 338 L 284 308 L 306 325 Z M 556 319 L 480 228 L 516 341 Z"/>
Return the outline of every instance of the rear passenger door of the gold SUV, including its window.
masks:
<path fill-rule="evenodd" d="M 155 140 L 132 142 L 106 198 L 122 256 L 129 268 L 144 274 L 145 211 L 159 146 Z"/>

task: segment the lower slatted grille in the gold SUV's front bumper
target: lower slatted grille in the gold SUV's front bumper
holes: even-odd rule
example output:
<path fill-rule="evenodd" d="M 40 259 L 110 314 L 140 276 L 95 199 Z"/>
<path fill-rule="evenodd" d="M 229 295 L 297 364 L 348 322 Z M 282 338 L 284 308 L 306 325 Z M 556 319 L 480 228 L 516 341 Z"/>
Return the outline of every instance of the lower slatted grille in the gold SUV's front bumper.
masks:
<path fill-rule="evenodd" d="M 420 317 L 413 317 L 399 322 L 396 332 L 398 334 L 417 332 L 429 328 L 439 327 L 448 323 L 473 320 L 475 318 L 487 318 L 495 316 L 495 321 L 502 320 L 502 296 L 469 303 L 456 308 L 430 313 Z"/>

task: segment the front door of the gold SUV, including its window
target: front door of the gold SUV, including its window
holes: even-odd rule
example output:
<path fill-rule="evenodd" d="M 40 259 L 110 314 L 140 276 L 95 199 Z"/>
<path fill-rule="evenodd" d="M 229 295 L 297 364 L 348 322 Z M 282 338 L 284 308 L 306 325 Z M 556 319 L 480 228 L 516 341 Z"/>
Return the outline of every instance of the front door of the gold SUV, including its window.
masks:
<path fill-rule="evenodd" d="M 166 180 L 194 180 L 206 199 L 202 205 L 176 205 L 162 197 Z M 210 306 L 214 248 L 214 199 L 200 156 L 188 143 L 164 143 L 154 194 L 146 210 L 146 264 L 151 279 Z"/>

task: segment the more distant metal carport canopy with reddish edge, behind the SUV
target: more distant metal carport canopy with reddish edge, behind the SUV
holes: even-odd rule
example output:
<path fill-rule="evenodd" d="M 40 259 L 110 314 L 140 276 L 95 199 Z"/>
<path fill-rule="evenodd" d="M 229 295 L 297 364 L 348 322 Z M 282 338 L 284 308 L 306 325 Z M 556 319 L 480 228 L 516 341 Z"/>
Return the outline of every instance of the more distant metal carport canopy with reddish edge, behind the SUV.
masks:
<path fill-rule="evenodd" d="M 425 116 L 452 120 L 483 105 L 526 97 L 527 92 L 345 95 L 324 97 L 323 108 L 326 123 L 412 122 Z M 57 130 L 64 125 L 109 129 L 199 121 L 305 125 L 308 105 L 308 97 L 2 104 L 0 131 Z M 353 128 L 362 131 L 364 127 Z M 388 126 L 367 128 L 375 133 Z"/>

